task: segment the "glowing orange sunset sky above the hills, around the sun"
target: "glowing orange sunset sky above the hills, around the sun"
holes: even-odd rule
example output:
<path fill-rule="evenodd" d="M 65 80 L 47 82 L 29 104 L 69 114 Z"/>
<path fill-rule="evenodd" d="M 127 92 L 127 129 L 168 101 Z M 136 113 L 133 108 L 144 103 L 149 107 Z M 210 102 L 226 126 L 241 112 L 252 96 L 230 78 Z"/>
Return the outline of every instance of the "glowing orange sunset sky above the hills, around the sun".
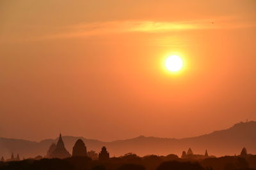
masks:
<path fill-rule="evenodd" d="M 185 138 L 256 120 L 255 6 L 0 0 L 0 137 Z"/>

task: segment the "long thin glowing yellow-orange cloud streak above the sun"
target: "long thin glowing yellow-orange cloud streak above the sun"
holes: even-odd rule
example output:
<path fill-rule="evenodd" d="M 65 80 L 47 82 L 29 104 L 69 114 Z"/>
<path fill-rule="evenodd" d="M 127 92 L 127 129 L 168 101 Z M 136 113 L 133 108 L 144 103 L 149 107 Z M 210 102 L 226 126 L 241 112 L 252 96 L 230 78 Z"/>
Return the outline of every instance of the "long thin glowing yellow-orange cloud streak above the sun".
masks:
<path fill-rule="evenodd" d="M 254 23 L 244 23 L 223 17 L 208 20 L 195 20 L 184 22 L 157 22 L 150 20 L 127 20 L 115 22 L 93 22 L 77 24 L 65 27 L 66 31 L 44 36 L 43 39 L 51 38 L 74 38 L 94 36 L 102 34 L 120 34 L 129 32 L 165 33 L 172 31 L 193 31 L 200 29 L 236 29 L 242 27 L 255 27 Z"/>

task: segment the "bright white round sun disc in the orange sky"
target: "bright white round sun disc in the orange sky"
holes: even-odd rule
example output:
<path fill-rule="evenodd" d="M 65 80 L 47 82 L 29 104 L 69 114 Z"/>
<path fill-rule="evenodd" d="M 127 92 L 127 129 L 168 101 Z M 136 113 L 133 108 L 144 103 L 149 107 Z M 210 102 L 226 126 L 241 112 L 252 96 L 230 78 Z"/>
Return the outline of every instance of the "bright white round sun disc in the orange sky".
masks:
<path fill-rule="evenodd" d="M 182 69 L 183 61 L 178 55 L 171 55 L 165 60 L 165 67 L 169 71 L 179 71 Z"/>

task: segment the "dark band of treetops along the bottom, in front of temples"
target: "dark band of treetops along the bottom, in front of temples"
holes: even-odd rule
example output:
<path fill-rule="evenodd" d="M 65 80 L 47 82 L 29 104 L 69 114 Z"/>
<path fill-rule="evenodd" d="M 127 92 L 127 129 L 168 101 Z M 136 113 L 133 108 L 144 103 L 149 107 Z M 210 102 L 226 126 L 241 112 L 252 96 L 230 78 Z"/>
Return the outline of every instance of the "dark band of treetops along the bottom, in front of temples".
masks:
<path fill-rule="evenodd" d="M 204 160 L 179 159 L 177 155 L 159 157 L 135 154 L 113 157 L 108 160 L 92 160 L 89 157 L 70 157 L 67 159 L 26 159 L 22 161 L 0 162 L 2 170 L 253 170 L 256 169 L 256 155 L 248 157 L 220 157 Z"/>

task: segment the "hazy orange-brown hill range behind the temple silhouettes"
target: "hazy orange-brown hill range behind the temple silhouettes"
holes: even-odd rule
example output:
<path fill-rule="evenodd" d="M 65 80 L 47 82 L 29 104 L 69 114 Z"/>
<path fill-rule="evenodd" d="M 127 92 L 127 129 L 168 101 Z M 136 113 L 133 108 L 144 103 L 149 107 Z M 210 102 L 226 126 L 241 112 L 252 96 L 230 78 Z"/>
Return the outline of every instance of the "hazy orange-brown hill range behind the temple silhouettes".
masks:
<path fill-rule="evenodd" d="M 125 153 L 136 153 L 138 155 L 168 155 L 175 153 L 181 155 L 183 150 L 192 148 L 194 153 L 204 154 L 205 149 L 210 155 L 234 155 L 239 154 L 243 147 L 248 153 L 256 153 L 256 122 L 241 122 L 229 129 L 215 131 L 193 138 L 170 139 L 139 136 L 137 138 L 103 142 L 83 137 L 63 136 L 63 141 L 67 150 L 72 153 L 72 146 L 77 139 L 83 139 L 87 150 L 100 151 L 102 146 L 106 146 L 113 156 L 124 155 Z M 51 143 L 56 139 L 45 139 L 40 142 L 26 141 L 22 139 L 0 138 L 0 157 L 10 158 L 11 153 L 20 154 L 23 157 L 35 157 L 36 155 L 46 155 Z"/>

